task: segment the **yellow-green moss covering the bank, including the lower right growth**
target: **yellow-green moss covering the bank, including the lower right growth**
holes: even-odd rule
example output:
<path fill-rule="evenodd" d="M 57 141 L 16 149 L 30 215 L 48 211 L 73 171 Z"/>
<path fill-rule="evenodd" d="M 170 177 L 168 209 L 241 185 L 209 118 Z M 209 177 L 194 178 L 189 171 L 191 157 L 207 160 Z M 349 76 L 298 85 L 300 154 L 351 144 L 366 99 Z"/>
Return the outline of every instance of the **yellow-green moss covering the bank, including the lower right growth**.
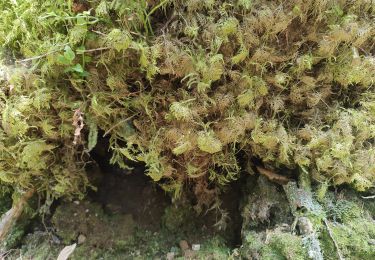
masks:
<path fill-rule="evenodd" d="M 83 199 L 97 188 L 90 151 L 108 138 L 111 164 L 144 164 L 198 213 L 220 211 L 258 166 L 290 180 L 284 191 L 259 180 L 263 200 L 242 199 L 243 238 L 273 225 L 267 243 L 245 236 L 251 254 L 305 259 L 311 239 L 334 259 L 334 236 L 346 257 L 372 259 L 374 213 L 355 192 L 375 184 L 374 18 L 369 0 L 2 0 L 1 213 L 27 191 L 43 214 Z M 169 209 L 166 229 L 182 228 L 186 208 Z M 277 229 L 302 217 L 313 232 Z"/>

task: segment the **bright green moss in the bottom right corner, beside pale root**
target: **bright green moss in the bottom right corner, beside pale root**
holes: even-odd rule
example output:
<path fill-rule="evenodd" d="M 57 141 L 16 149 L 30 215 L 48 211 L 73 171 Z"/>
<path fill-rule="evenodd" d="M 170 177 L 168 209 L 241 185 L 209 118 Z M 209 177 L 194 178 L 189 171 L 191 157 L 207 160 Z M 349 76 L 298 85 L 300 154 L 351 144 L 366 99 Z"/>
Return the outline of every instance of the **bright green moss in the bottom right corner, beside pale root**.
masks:
<path fill-rule="evenodd" d="M 338 198 L 328 193 L 325 200 L 332 236 L 344 257 L 349 259 L 374 258 L 375 223 L 371 206 L 364 206 L 373 202 L 361 199 L 352 190 L 343 191 Z M 337 249 L 327 230 L 322 231 L 320 241 L 325 257 L 336 259 Z"/>

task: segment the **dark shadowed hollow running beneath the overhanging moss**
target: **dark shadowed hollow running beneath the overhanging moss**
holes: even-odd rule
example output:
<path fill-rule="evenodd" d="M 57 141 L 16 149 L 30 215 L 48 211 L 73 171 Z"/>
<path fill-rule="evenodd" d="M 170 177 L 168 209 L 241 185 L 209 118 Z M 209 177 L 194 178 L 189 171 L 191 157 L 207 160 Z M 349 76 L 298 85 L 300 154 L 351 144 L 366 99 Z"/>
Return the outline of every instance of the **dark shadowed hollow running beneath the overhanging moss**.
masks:
<path fill-rule="evenodd" d="M 165 227 L 167 209 L 174 206 L 170 197 L 145 174 L 143 164 L 129 162 L 133 170 L 123 170 L 109 164 L 111 153 L 108 149 L 108 140 L 104 138 L 98 140 L 91 157 L 99 168 L 95 177 L 97 191 L 89 194 L 92 201 L 101 204 L 108 214 L 131 214 L 137 225 L 142 228 L 159 231 Z M 178 230 L 181 239 L 204 242 L 205 237 L 220 235 L 230 247 L 234 248 L 241 244 L 242 217 L 239 204 L 247 177 L 244 174 L 242 176 L 228 185 L 221 194 L 222 211 L 212 210 L 197 215 L 193 210 L 193 192 L 185 192 L 188 194 L 183 202 L 185 205 L 177 205 L 176 211 L 179 214 L 180 207 L 181 210 L 189 208 L 189 216 L 185 216 L 186 221 L 183 222 L 184 227 Z M 227 224 L 224 230 L 218 231 L 215 224 L 220 220 L 222 212 L 228 214 Z M 180 216 L 176 216 L 178 217 Z"/>

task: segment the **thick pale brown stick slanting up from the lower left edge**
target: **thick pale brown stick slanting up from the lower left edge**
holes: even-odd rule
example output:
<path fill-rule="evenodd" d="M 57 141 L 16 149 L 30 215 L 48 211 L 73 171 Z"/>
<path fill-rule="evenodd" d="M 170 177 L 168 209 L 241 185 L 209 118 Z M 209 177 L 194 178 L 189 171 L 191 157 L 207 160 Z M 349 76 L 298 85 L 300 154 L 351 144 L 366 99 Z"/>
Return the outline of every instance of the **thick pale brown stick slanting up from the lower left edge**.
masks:
<path fill-rule="evenodd" d="M 4 241 L 13 224 L 21 216 L 27 201 L 33 196 L 35 190 L 25 192 L 22 197 L 8 210 L 0 220 L 0 243 Z"/>

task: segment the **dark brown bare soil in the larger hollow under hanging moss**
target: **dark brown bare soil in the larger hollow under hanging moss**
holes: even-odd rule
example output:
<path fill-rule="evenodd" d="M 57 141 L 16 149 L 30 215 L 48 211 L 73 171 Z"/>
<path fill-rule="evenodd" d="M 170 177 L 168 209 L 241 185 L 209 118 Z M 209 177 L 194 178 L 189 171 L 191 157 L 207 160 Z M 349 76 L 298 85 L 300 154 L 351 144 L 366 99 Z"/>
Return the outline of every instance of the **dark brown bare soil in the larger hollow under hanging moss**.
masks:
<path fill-rule="evenodd" d="M 160 228 L 169 197 L 143 173 L 141 167 L 132 172 L 106 169 L 94 201 L 103 205 L 109 215 L 130 214 L 141 227 Z"/>

